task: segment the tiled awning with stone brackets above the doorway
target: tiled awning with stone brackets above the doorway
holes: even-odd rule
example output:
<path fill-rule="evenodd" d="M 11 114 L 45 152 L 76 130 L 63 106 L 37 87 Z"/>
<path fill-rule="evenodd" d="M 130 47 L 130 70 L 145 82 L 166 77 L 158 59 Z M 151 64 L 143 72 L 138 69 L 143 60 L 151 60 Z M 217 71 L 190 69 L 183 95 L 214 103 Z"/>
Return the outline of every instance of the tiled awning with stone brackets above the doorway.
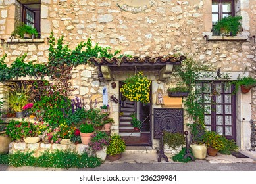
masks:
<path fill-rule="evenodd" d="M 95 58 L 92 57 L 88 61 L 93 62 L 95 66 L 100 67 L 105 80 L 112 80 L 112 72 L 115 71 L 134 71 L 135 67 L 138 71 L 159 71 L 159 79 L 165 80 L 172 72 L 173 65 L 181 64 L 185 56 L 168 56 L 168 57 L 113 57 L 113 58 Z"/>

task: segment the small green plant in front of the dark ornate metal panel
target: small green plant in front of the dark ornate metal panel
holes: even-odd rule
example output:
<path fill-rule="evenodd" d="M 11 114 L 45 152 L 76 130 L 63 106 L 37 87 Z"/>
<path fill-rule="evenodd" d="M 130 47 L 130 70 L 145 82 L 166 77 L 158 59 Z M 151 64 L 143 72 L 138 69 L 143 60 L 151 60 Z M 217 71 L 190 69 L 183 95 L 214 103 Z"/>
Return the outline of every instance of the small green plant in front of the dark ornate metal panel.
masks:
<path fill-rule="evenodd" d="M 185 144 L 184 135 L 181 133 L 170 133 L 168 131 L 164 131 L 163 141 L 172 149 L 177 149 Z"/>

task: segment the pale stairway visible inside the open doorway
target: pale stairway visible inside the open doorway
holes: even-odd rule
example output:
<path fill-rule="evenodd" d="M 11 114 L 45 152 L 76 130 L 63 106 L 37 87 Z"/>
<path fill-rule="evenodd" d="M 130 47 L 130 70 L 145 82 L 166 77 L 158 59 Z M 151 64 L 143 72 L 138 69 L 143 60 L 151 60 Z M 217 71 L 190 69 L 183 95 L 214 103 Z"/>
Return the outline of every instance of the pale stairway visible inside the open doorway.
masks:
<path fill-rule="evenodd" d="M 119 120 L 119 135 L 121 137 L 140 137 L 140 130 L 134 130 L 134 127 L 131 124 L 132 118 L 130 117 L 130 114 L 135 112 L 135 103 L 126 100 L 124 105 L 121 105 L 121 112 L 124 112 L 124 114 L 120 116 Z"/>

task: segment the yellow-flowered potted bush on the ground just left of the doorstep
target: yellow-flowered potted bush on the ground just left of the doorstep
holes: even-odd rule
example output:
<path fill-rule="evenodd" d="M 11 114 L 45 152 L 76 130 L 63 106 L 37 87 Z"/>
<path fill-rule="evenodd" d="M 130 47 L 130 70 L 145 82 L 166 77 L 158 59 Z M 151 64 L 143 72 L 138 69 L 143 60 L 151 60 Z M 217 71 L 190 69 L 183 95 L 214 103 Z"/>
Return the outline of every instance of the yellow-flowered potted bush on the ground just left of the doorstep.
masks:
<path fill-rule="evenodd" d="M 120 135 L 111 135 L 109 145 L 107 146 L 107 156 L 109 160 L 118 160 L 122 157 L 122 152 L 126 149 L 124 140 Z"/>

